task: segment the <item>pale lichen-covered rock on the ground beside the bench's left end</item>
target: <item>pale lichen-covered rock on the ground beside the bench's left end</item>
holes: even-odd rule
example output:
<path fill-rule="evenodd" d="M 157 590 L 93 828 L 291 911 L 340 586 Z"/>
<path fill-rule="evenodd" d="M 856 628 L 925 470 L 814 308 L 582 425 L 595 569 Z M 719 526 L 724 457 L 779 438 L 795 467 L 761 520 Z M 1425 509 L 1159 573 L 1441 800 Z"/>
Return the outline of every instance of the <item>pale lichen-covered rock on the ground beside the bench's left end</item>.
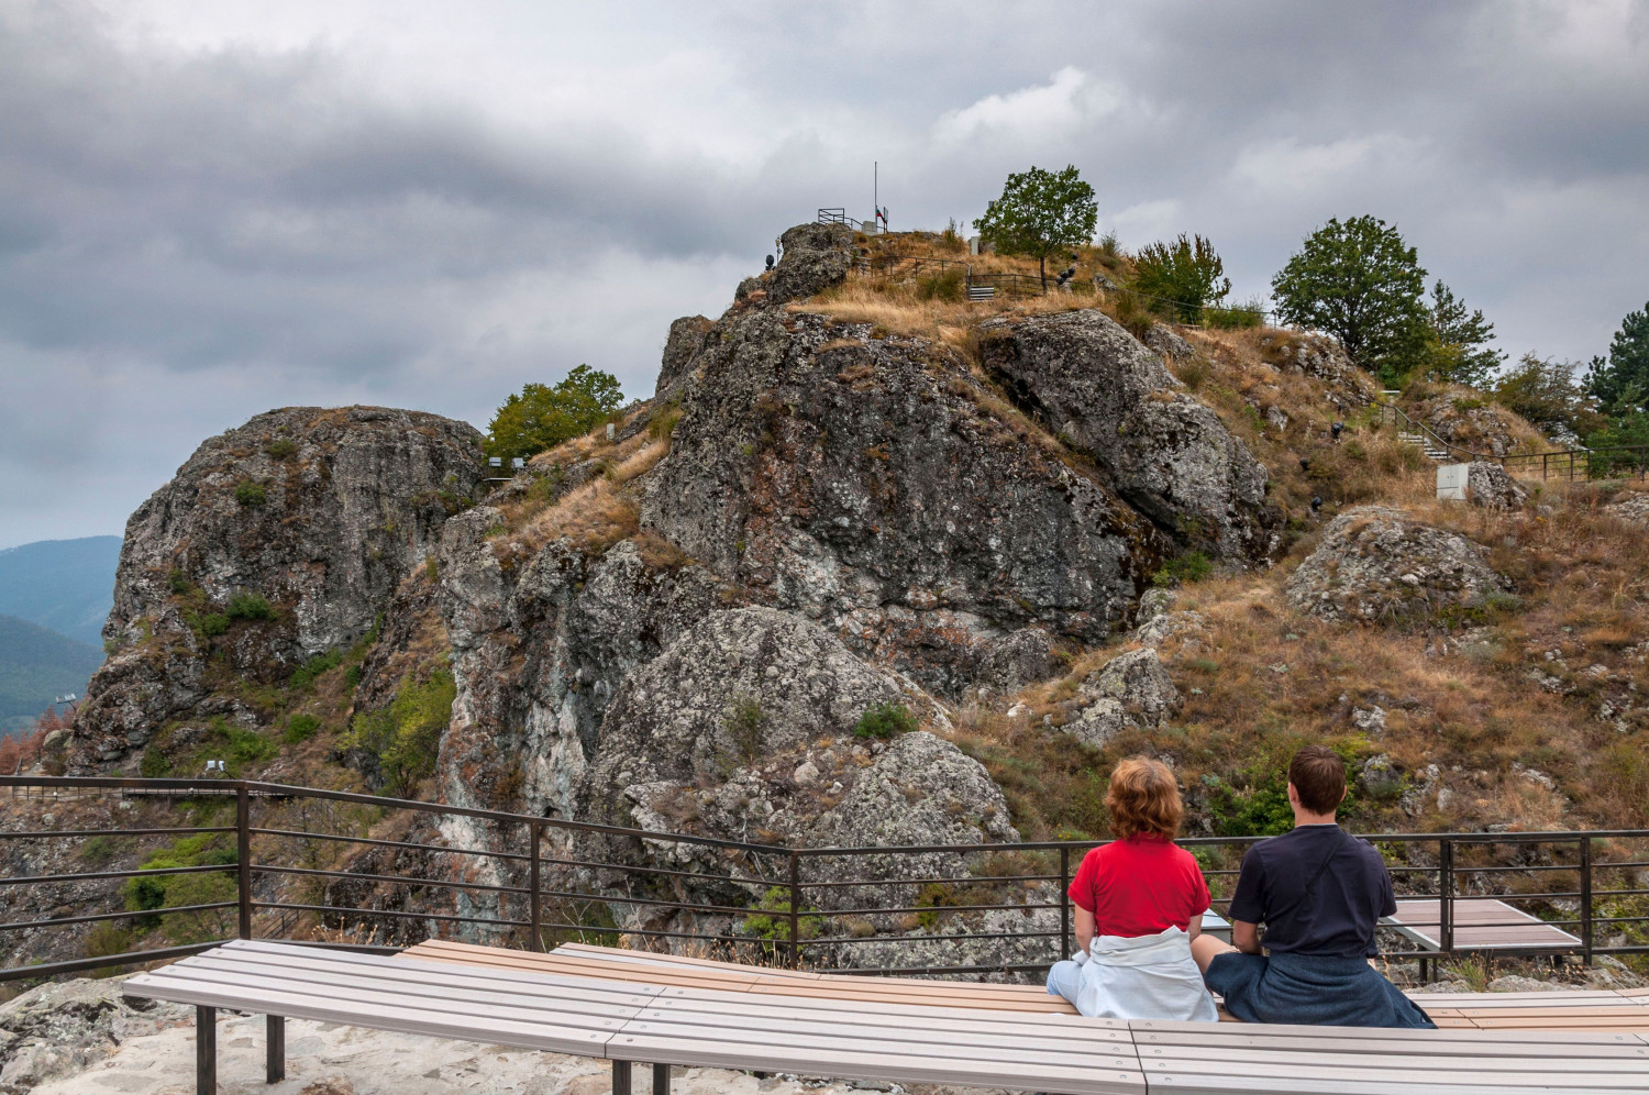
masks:
<path fill-rule="evenodd" d="M 0 1095 L 86 1070 L 129 1037 L 193 1019 L 193 1009 L 120 994 L 117 980 L 54 981 L 0 1004 Z"/>

